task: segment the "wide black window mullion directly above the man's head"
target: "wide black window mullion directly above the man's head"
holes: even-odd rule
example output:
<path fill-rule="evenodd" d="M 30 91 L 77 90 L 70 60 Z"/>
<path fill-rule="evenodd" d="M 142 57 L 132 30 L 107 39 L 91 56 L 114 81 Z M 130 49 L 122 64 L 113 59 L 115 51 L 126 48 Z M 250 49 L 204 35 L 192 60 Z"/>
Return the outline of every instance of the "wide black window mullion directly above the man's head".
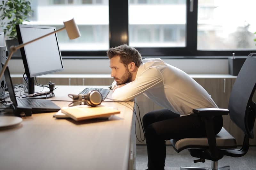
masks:
<path fill-rule="evenodd" d="M 129 0 L 109 0 L 109 47 L 129 43 Z"/>

